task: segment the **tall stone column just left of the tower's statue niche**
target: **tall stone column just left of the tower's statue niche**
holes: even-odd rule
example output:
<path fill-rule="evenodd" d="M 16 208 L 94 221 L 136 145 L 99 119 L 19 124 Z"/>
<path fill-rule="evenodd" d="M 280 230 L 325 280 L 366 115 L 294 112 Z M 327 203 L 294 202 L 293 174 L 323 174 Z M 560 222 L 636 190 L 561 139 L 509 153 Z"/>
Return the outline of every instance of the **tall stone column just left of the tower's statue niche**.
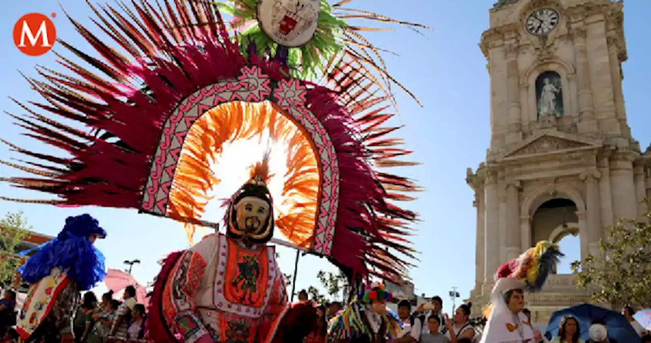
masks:
<path fill-rule="evenodd" d="M 517 42 L 509 42 L 506 45 L 506 102 L 508 103 L 506 144 L 522 140 L 517 44 Z"/>

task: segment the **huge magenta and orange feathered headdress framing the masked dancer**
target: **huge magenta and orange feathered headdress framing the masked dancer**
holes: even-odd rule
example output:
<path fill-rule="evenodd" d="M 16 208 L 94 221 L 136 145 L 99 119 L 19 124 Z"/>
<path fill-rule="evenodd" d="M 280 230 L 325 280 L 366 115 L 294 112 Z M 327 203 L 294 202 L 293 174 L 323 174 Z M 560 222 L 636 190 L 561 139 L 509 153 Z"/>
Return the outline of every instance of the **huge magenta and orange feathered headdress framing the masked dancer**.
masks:
<path fill-rule="evenodd" d="M 414 163 L 396 161 L 409 152 L 387 137 L 396 128 L 384 126 L 393 117 L 385 112 L 393 78 L 372 62 L 379 50 L 343 20 L 396 21 L 342 8 L 349 2 L 238 0 L 235 22 L 255 17 L 262 24 L 237 32 L 208 1 L 143 1 L 122 11 L 91 5 L 100 29 L 131 57 L 71 19 L 101 57 L 59 44 L 101 74 L 58 55 L 70 73 L 39 68 L 45 80 L 29 82 L 46 102 L 19 103 L 29 114 L 12 115 L 26 135 L 68 156 L 5 142 L 38 161 L 3 162 L 38 176 L 5 181 L 57 197 L 3 199 L 134 208 L 189 223 L 191 236 L 192 225 L 210 224 L 202 215 L 221 181 L 212 166 L 224 147 L 268 135 L 288 147 L 285 206 L 275 211 L 275 227 L 352 274 L 406 278 L 409 263 L 396 252 L 413 256 L 402 236 L 416 215 L 393 202 L 411 200 L 404 192 L 417 186 L 375 168 Z M 300 13 L 288 12 L 297 4 Z M 260 8 L 255 16 L 253 7 Z M 337 16 L 335 9 L 348 14 Z M 292 42 L 300 44 L 287 48 Z M 320 79 L 296 77 L 315 74 L 308 71 L 316 66 L 325 66 L 316 72 Z"/>

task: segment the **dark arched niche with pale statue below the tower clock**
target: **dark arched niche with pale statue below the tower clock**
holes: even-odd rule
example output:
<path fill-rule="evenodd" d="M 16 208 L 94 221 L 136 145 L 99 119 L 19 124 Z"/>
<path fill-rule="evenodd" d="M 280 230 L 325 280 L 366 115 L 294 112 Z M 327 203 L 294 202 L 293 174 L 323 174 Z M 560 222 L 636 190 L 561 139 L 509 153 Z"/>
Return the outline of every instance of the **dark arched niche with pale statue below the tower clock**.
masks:
<path fill-rule="evenodd" d="M 544 72 L 536 79 L 536 104 L 538 120 L 563 116 L 563 92 L 561 75 Z"/>

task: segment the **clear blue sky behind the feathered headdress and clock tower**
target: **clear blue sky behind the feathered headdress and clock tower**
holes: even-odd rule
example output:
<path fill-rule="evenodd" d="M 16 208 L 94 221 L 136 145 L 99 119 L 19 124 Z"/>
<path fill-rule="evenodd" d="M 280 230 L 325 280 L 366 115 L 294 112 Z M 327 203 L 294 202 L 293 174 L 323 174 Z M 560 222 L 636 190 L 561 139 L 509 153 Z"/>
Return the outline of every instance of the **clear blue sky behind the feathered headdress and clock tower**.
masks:
<path fill-rule="evenodd" d="M 522 0 L 523 1 L 523 0 Z M 419 36 L 406 29 L 368 36 L 377 46 L 400 54 L 387 55 L 389 70 L 413 90 L 424 103 L 418 107 L 404 94 L 398 94 L 402 117 L 396 122 L 405 124 L 400 135 L 406 138 L 407 148 L 415 150 L 411 158 L 423 164 L 405 169 L 404 173 L 426 187 L 410 208 L 422 214 L 422 223 L 413 238 L 421 252 L 417 268 L 411 275 L 417 292 L 427 295 L 447 295 L 451 286 L 458 286 L 462 297 L 469 294 L 474 283 L 475 269 L 475 208 L 473 193 L 465 184 L 467 167 L 475 169 L 486 155 L 489 139 L 489 80 L 486 60 L 477 44 L 482 31 L 488 28 L 488 10 L 495 0 L 356 0 L 350 7 L 389 14 L 401 20 L 417 21 L 434 27 L 434 31 Z M 0 109 L 21 113 L 5 96 L 18 100 L 37 100 L 17 70 L 35 75 L 33 66 L 55 66 L 55 56 L 27 57 L 14 47 L 13 25 L 23 14 L 57 13 L 57 36 L 74 46 L 90 51 L 88 44 L 64 19 L 59 7 L 62 3 L 68 13 L 86 25 L 90 10 L 82 0 L 6 1 L 0 13 Z M 626 109 L 633 134 L 643 148 L 651 139 L 648 118 L 648 84 L 651 79 L 648 56 L 648 17 L 651 1 L 627 1 L 624 24 L 629 61 L 624 64 L 624 92 Z M 98 29 L 92 29 L 98 32 Z M 647 42 L 647 43 L 644 43 Z M 57 49 L 57 48 L 55 48 Z M 58 48 L 58 51 L 64 51 Z M 70 56 L 67 53 L 67 56 Z M 43 146 L 19 135 L 7 116 L 0 116 L 0 136 L 24 148 L 41 151 Z M 18 158 L 0 148 L 0 159 Z M 0 176 L 14 176 L 16 171 L 0 166 Z M 39 197 L 38 193 L 19 191 L 0 184 L 0 194 L 9 197 Z M 156 260 L 165 253 L 187 247 L 186 235 L 180 225 L 168 219 L 139 215 L 136 210 L 102 208 L 55 208 L 45 205 L 0 203 L 0 212 L 23 210 L 35 229 L 56 234 L 65 217 L 88 212 L 100 220 L 109 232 L 107 240 L 98 247 L 107 256 L 109 268 L 123 268 L 125 259 L 139 258 L 135 277 L 143 284 L 158 271 Z M 565 245 L 565 244 L 564 244 Z M 564 247 L 570 255 L 578 256 L 576 241 Z M 294 269 L 294 253 L 281 248 L 281 268 L 285 273 Z M 316 284 L 316 271 L 334 270 L 326 260 L 308 256 L 299 265 L 298 287 Z M 447 299 L 447 296 L 444 297 Z M 447 302 L 449 305 L 449 302 Z M 446 309 L 447 309 L 446 305 Z"/>

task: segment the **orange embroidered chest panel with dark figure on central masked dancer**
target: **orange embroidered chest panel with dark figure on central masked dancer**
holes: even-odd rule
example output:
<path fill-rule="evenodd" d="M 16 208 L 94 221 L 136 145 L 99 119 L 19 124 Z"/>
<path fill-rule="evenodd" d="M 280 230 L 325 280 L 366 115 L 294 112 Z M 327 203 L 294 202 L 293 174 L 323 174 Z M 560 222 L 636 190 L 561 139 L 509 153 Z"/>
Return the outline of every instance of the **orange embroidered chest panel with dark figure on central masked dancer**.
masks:
<path fill-rule="evenodd" d="M 227 259 L 224 295 L 232 304 L 262 307 L 269 280 L 269 257 L 267 249 L 249 250 L 236 241 L 227 240 Z"/>

